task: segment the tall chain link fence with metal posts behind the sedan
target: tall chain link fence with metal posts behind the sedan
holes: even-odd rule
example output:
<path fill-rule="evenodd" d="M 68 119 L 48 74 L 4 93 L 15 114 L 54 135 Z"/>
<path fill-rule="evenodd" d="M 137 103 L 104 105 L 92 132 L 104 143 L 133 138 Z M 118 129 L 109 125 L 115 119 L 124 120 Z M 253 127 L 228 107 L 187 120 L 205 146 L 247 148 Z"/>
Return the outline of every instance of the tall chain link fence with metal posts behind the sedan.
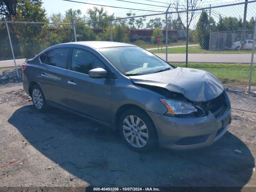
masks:
<path fill-rule="evenodd" d="M 83 24 L 7 24 L 18 66 L 54 44 L 115 41 L 145 48 L 175 66 L 206 70 L 225 84 L 249 88 L 250 79 L 249 89 L 255 92 L 255 9 L 256 2 L 248 2 L 245 20 L 245 4 L 236 3 Z M 10 39 L 6 21 L 1 21 L 0 67 L 14 66 Z"/>

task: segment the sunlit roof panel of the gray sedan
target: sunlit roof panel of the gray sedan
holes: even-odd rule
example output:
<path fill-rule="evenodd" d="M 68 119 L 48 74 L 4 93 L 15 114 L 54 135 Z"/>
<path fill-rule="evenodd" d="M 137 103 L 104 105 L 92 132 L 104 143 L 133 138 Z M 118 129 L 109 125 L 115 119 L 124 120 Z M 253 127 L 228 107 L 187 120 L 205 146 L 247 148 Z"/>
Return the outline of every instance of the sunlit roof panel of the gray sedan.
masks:
<path fill-rule="evenodd" d="M 92 47 L 94 49 L 106 48 L 106 47 L 136 46 L 128 43 L 111 42 L 111 41 L 78 41 L 78 42 L 65 43 L 65 45 L 67 44 L 70 44 L 72 46 L 85 45 L 85 46 Z"/>

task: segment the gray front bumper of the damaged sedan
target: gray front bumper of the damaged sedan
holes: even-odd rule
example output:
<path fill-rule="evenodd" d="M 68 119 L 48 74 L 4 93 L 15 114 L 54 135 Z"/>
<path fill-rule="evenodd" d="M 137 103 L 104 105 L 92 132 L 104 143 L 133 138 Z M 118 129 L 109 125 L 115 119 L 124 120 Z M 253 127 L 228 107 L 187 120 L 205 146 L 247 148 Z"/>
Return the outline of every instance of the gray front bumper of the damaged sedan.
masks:
<path fill-rule="evenodd" d="M 176 118 L 148 112 L 158 133 L 159 145 L 185 150 L 204 147 L 221 138 L 231 123 L 231 109 L 215 118 L 212 113 L 200 118 Z"/>

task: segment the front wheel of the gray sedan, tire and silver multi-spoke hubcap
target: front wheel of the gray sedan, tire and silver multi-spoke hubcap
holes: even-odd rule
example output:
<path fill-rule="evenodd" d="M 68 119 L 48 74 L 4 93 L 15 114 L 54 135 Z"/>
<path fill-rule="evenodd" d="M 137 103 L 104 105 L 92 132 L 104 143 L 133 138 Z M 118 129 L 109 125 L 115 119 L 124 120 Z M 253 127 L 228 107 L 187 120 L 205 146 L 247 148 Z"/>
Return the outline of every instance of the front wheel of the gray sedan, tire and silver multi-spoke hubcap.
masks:
<path fill-rule="evenodd" d="M 158 146 L 154 123 L 141 109 L 126 110 L 120 116 L 118 129 L 124 143 L 134 151 L 147 152 Z"/>

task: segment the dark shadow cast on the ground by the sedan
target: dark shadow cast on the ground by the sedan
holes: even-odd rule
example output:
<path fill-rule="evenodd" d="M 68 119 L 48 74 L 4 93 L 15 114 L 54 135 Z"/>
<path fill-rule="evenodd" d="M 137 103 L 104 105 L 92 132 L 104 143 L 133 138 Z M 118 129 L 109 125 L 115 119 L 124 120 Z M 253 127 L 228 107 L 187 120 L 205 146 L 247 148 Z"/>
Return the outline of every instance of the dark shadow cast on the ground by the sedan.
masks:
<path fill-rule="evenodd" d="M 230 132 L 197 150 L 140 154 L 111 129 L 62 110 L 40 113 L 24 106 L 8 122 L 40 153 L 90 186 L 242 187 L 254 167 L 249 148 Z"/>

